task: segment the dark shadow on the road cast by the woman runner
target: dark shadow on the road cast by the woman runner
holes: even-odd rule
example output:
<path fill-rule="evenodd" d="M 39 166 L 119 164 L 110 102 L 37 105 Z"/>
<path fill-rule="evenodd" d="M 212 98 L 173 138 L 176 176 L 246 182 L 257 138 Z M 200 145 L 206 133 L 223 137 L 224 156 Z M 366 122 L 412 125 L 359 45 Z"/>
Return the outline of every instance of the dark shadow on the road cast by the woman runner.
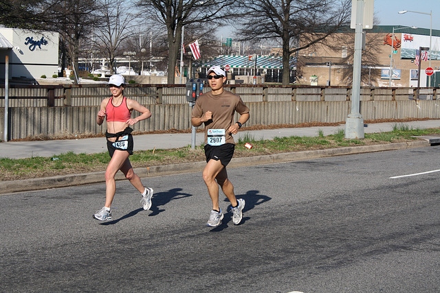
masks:
<path fill-rule="evenodd" d="M 192 196 L 192 194 L 185 194 L 182 191 L 181 188 L 173 188 L 166 192 L 158 192 L 157 194 L 153 194 L 153 197 L 151 198 L 151 208 L 150 213 L 148 216 L 151 217 L 153 215 L 158 215 L 159 213 L 162 213 L 162 211 L 165 211 L 165 209 L 159 209 L 160 206 L 164 206 L 171 200 L 179 200 L 181 198 L 188 198 L 188 196 Z M 118 218 L 116 220 L 111 220 L 109 222 L 103 222 L 100 223 L 101 225 L 113 225 L 118 223 L 121 220 L 125 220 L 126 218 L 133 217 L 133 215 L 136 215 L 137 213 L 140 213 L 141 211 L 144 211 L 143 208 L 135 209 L 134 211 L 131 211 L 130 213 L 127 213 L 126 215 L 123 215 L 121 218 Z"/>

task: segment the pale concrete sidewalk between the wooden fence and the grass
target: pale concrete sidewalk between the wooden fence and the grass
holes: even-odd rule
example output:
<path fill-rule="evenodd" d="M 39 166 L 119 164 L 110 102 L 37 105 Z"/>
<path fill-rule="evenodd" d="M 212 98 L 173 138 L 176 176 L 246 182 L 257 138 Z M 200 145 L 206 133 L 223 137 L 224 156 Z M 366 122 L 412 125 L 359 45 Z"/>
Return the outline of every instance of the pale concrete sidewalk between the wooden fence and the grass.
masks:
<path fill-rule="evenodd" d="M 426 120 L 426 121 L 410 121 L 404 123 L 397 123 L 397 125 L 408 126 L 413 129 L 425 129 L 440 127 L 440 120 Z M 365 133 L 374 132 L 388 132 L 393 130 L 396 125 L 392 123 L 377 123 L 365 124 Z M 340 126 L 318 126 L 307 128 L 279 128 L 271 130 L 241 130 L 234 136 L 235 141 L 240 137 L 249 135 L 256 140 L 259 139 L 274 139 L 274 137 L 316 137 L 320 130 L 323 134 L 335 134 L 339 130 L 344 130 L 345 125 Z M 183 148 L 191 144 L 190 133 L 175 133 L 175 134 L 143 134 L 133 136 L 135 143 L 135 150 L 153 150 L 168 149 L 168 148 Z M 196 145 L 203 143 L 203 133 L 196 134 Z M 55 141 L 8 141 L 0 143 L 0 158 L 9 159 L 23 159 L 32 158 L 34 156 L 56 156 L 57 154 L 72 151 L 75 154 L 96 154 L 99 152 L 107 152 L 107 145 L 104 137 L 93 139 L 68 139 Z"/>

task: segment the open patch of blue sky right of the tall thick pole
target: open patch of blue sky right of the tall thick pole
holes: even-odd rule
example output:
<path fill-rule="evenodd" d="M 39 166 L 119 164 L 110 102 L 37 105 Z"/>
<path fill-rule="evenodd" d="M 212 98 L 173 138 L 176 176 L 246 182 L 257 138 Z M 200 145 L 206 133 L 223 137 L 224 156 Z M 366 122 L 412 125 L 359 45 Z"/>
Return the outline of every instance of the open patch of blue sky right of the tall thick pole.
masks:
<path fill-rule="evenodd" d="M 431 13 L 432 30 L 440 30 L 440 0 L 375 0 L 375 16 L 379 25 L 404 25 L 430 28 L 430 16 L 415 12 L 399 14 L 401 10 Z"/>

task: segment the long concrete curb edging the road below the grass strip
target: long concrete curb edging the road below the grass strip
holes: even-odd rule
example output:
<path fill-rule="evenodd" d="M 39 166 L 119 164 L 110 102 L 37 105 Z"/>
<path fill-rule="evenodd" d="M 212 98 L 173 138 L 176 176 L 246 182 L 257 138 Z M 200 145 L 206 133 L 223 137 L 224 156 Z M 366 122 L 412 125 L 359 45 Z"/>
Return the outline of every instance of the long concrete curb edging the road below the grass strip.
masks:
<path fill-rule="evenodd" d="M 429 141 L 411 141 L 406 143 L 387 143 L 381 145 L 360 145 L 347 148 L 332 148 L 326 150 L 307 150 L 303 152 L 288 152 L 282 154 L 269 154 L 264 156 L 248 156 L 232 159 L 228 167 L 245 167 L 251 165 L 267 165 L 317 159 L 327 156 L 343 156 L 347 154 L 360 154 L 365 152 L 383 152 L 386 150 L 405 150 L 408 148 L 425 148 L 430 146 Z M 141 178 L 164 176 L 172 174 L 201 172 L 205 162 L 182 163 L 174 165 L 162 165 L 153 167 L 135 168 L 135 172 Z M 50 189 L 58 187 L 69 187 L 75 185 L 86 185 L 92 183 L 104 183 L 105 172 L 93 172 L 87 174 L 71 174 L 63 176 L 52 176 L 43 178 L 32 178 L 26 180 L 0 181 L 0 194 L 11 194 L 14 192 Z M 122 173 L 116 175 L 116 180 L 123 180 Z"/>

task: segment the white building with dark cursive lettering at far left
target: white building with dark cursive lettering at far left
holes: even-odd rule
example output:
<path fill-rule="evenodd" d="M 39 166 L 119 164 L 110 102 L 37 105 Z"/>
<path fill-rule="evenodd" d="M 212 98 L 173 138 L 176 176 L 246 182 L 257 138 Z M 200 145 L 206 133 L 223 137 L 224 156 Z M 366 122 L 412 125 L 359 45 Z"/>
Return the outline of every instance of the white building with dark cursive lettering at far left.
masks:
<path fill-rule="evenodd" d="M 35 80 L 58 75 L 58 33 L 34 32 L 0 27 L 0 38 L 12 49 L 0 50 L 0 78 L 5 76 L 5 56 L 9 56 L 11 80 Z"/>

